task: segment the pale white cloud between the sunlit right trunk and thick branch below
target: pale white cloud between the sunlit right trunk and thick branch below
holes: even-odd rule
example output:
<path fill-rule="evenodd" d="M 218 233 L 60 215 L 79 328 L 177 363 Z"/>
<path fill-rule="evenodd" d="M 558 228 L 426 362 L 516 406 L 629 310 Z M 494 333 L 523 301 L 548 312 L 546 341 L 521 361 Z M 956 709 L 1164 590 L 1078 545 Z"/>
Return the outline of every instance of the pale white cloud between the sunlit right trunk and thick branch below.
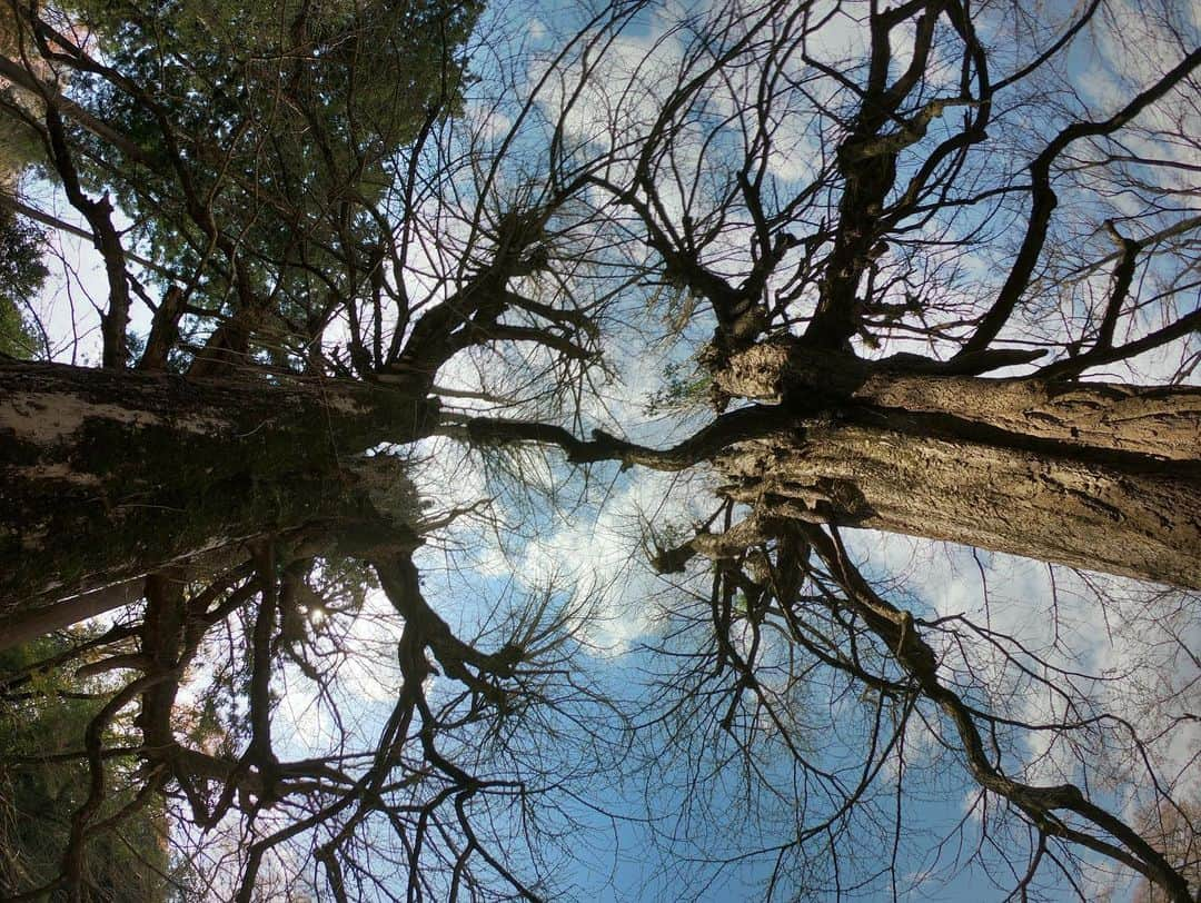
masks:
<path fill-rule="evenodd" d="M 1155 778 L 1176 785 L 1177 799 L 1201 791 L 1201 763 L 1194 759 L 1201 728 L 1187 718 L 1201 707 L 1201 662 L 1191 652 L 1201 648 L 1195 593 L 1082 576 L 997 552 L 973 555 L 948 543 L 848 536 L 867 557 L 870 574 L 912 594 L 915 615 L 928 606 L 927 617 L 962 616 L 1002 644 L 963 629 L 956 642 L 942 636 L 945 680 L 973 674 L 975 692 L 990 692 L 994 711 L 1028 724 L 1109 717 L 1078 730 L 1018 731 L 1010 767 L 1022 769 L 1026 781 L 1087 777 L 1094 789 L 1109 787 L 1131 806 L 1146 805 L 1151 775 L 1129 731 L 1115 720 L 1122 719 L 1143 741 Z M 901 590 L 894 591 L 894 602 L 901 598 Z M 1045 683 L 1029 680 L 1017 664 Z"/>

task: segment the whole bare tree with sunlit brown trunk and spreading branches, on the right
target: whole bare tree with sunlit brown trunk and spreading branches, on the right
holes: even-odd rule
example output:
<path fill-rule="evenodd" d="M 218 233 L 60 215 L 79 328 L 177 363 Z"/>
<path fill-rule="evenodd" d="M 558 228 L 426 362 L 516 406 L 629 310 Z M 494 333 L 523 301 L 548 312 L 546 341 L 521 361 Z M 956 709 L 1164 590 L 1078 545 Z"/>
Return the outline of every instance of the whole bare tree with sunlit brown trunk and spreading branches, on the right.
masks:
<path fill-rule="evenodd" d="M 832 56 L 823 30 L 856 12 L 864 55 Z M 706 784 L 734 772 L 758 788 L 743 824 L 778 824 L 784 839 L 752 830 L 758 847 L 731 844 L 722 833 L 706 855 L 731 867 L 775 857 L 769 895 L 841 896 L 882 878 L 903 890 L 913 782 L 895 781 L 892 794 L 882 775 L 920 760 L 904 752 L 914 720 L 979 784 L 987 830 L 976 857 L 1004 851 L 994 874 L 1008 871 L 996 880 L 1011 896 L 1038 893 L 1051 869 L 1087 897 L 1075 875 L 1095 856 L 1169 898 L 1194 893 L 1187 862 L 1105 799 L 1098 761 L 1109 750 L 1139 763 L 1127 779 L 1187 819 L 1179 794 L 1195 761 L 1158 761 L 1152 746 L 1190 735 L 1188 704 L 1169 704 L 1147 730 L 1097 701 L 1119 678 L 1057 644 L 1030 648 L 987 618 L 890 602 L 838 532 L 950 539 L 1197 587 L 1201 396 L 1182 383 L 1199 323 L 1188 199 L 1201 56 L 1178 10 L 1160 8 L 1137 37 L 1122 34 L 1129 24 L 1093 5 L 1032 29 L 1027 47 L 1020 10 L 731 6 L 665 29 L 631 71 L 607 73 L 627 94 L 600 114 L 613 157 L 592 184 L 646 249 L 641 285 L 686 297 L 669 317 L 712 312 L 698 376 L 721 413 L 662 449 L 512 420 L 477 420 L 467 433 L 557 443 L 575 464 L 715 467 L 727 506 L 656 554 L 667 572 L 693 556 L 713 562 L 699 612 L 669 608 L 669 623 L 692 624 L 669 636 L 697 645 L 693 665 L 665 671 L 679 701 L 663 730 L 688 750 L 669 771 L 691 776 L 677 800 L 704 800 Z M 998 35 L 1021 40 L 990 54 Z M 1098 106 L 1056 70 L 1081 35 L 1134 60 L 1129 94 Z M 1147 364 L 1159 384 L 1136 382 Z M 1017 375 L 993 376 L 1005 369 Z M 1163 630 L 1187 646 L 1196 610 L 1183 599 L 1183 633 L 1166 621 Z M 665 662 L 682 654 L 673 641 L 662 651 Z M 833 676 L 815 684 L 823 672 Z M 802 701 L 814 686 L 831 708 L 854 692 L 867 710 L 815 750 Z M 1044 690 L 1054 698 L 1045 720 L 1012 701 Z M 817 732 L 838 736 L 827 731 Z M 1075 770 L 1023 754 L 1047 735 Z M 843 743 L 859 746 L 848 755 Z M 844 771 L 833 767 L 842 757 Z M 848 850 L 877 837 L 866 841 L 873 855 Z M 1022 837 L 1026 865 L 1012 855 Z M 880 842 L 892 850 L 883 865 Z"/>

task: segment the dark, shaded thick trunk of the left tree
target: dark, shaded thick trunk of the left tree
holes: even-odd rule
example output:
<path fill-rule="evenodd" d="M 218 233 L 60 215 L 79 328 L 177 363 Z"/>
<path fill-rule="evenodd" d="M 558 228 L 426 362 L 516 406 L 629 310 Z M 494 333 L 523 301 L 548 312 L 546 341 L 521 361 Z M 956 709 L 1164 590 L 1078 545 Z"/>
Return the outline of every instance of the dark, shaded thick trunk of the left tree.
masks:
<path fill-rule="evenodd" d="M 432 424 L 416 394 L 0 365 L 0 616 L 352 515 L 358 456 Z"/>

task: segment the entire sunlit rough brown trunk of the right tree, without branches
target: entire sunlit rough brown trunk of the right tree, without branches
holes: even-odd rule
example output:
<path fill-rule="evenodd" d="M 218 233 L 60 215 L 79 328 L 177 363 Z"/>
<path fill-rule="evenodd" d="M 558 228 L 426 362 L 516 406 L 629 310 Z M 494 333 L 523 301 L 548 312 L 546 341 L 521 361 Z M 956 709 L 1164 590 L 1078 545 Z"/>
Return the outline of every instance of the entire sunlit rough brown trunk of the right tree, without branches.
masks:
<path fill-rule="evenodd" d="M 765 514 L 1201 587 L 1196 388 L 906 372 L 785 345 L 718 384 L 801 424 L 717 461 L 723 491 Z"/>

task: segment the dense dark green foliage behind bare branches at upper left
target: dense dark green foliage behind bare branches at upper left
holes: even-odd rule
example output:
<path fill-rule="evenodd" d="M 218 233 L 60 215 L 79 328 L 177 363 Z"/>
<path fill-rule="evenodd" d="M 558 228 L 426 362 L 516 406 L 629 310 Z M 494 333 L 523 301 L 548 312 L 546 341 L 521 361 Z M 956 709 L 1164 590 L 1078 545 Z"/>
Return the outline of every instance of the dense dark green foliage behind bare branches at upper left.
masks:
<path fill-rule="evenodd" d="M 249 282 L 261 331 L 305 334 L 327 298 L 369 291 L 392 241 L 388 191 L 423 128 L 460 106 L 479 10 L 83 0 L 121 77 L 77 78 L 73 95 L 145 161 L 91 138 L 85 175 L 135 219 L 138 250 L 189 282 L 193 307 L 245 307 Z"/>

